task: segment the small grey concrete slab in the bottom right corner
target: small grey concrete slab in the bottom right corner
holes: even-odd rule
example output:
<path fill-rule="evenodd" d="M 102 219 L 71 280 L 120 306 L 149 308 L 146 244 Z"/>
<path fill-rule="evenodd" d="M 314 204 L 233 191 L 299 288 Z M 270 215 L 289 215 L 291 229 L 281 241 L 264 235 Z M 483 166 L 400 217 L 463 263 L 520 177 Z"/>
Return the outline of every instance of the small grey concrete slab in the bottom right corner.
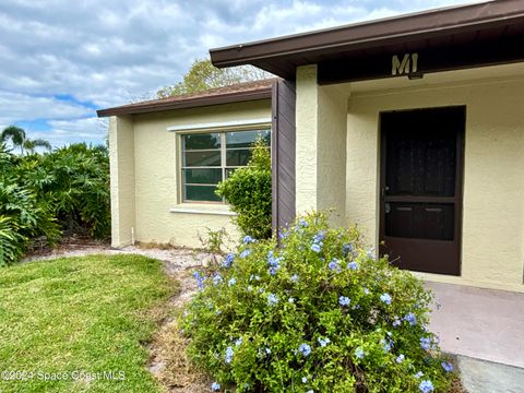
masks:
<path fill-rule="evenodd" d="M 457 356 L 461 380 L 469 393 L 522 393 L 524 369 Z"/>

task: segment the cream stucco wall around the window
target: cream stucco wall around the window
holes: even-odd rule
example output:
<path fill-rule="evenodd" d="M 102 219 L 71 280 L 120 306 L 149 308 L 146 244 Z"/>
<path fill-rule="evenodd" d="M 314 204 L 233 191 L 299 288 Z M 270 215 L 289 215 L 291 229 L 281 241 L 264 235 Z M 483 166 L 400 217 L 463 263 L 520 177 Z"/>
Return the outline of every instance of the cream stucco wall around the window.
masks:
<path fill-rule="evenodd" d="M 199 234 L 226 228 L 238 239 L 229 210 L 219 204 L 181 203 L 179 200 L 177 133 L 168 127 L 271 119 L 270 100 L 219 105 L 138 115 L 133 118 L 135 238 L 143 242 L 170 242 L 201 247 Z M 171 210 L 178 209 L 178 212 Z M 200 213 L 182 213 L 184 209 Z"/>

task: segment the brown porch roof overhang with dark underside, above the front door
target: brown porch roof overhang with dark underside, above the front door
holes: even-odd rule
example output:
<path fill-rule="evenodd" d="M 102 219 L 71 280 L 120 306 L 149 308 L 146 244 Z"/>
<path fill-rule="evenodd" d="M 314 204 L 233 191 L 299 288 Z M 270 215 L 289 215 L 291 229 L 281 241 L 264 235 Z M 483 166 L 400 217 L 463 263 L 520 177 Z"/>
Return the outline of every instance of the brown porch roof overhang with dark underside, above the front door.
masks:
<path fill-rule="evenodd" d="M 216 67 L 252 64 L 293 80 L 299 66 L 319 64 L 324 70 L 319 71 L 321 79 L 322 73 L 333 73 L 333 68 L 353 68 L 356 59 L 379 60 L 397 53 L 402 60 L 404 53 L 417 51 L 442 56 L 448 50 L 452 55 L 462 53 L 465 59 L 457 68 L 523 61 L 523 41 L 524 0 L 498 0 L 234 45 L 211 49 L 210 53 Z M 503 53 L 483 57 L 483 52 L 497 49 L 501 44 L 505 45 Z M 467 48 L 473 49 L 465 52 Z M 368 69 L 369 63 L 357 64 L 357 68 Z M 391 71 L 391 60 L 389 68 Z M 439 64 L 433 69 L 452 68 Z M 340 75 L 336 81 L 376 76 Z"/>

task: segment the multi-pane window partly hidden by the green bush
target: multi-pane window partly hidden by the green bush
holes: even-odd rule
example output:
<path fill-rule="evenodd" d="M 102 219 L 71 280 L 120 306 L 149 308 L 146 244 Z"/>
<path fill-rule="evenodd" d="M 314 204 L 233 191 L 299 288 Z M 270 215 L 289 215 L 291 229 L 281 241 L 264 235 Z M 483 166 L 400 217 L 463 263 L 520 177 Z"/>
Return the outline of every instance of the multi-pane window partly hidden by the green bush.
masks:
<path fill-rule="evenodd" d="M 269 127 L 212 130 L 180 134 L 180 195 L 183 203 L 225 203 L 216 186 L 249 163 L 252 145 L 262 139 L 271 145 Z"/>

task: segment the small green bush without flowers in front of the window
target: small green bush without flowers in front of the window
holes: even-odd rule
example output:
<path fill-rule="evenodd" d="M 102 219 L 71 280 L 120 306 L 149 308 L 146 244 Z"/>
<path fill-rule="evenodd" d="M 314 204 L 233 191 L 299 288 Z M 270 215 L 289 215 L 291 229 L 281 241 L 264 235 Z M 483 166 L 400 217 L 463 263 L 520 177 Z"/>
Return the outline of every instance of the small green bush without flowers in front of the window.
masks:
<path fill-rule="evenodd" d="M 234 221 L 243 235 L 271 237 L 271 154 L 263 141 L 254 144 L 248 166 L 221 182 L 216 193 L 237 213 Z"/>

